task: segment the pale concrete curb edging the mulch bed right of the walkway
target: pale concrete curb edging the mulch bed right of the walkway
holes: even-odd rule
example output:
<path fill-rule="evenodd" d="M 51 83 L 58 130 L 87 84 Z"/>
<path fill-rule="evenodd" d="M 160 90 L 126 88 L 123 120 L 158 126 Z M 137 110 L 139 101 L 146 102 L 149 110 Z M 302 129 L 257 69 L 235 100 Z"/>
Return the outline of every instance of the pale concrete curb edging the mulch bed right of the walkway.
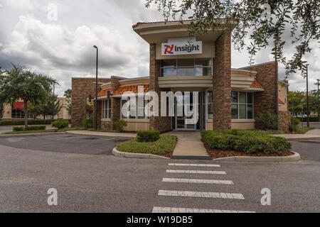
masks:
<path fill-rule="evenodd" d="M 301 159 L 299 153 L 291 150 L 294 155 L 282 156 L 282 157 L 254 157 L 254 156 L 232 156 L 232 157 L 220 157 L 213 159 L 213 161 L 220 162 L 294 162 Z"/>

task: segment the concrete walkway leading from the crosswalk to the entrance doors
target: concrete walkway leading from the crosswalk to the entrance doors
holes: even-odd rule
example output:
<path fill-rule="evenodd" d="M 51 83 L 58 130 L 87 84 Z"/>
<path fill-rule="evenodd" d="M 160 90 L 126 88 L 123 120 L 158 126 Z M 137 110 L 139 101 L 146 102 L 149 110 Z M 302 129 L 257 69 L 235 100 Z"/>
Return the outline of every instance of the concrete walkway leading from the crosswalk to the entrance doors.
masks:
<path fill-rule="evenodd" d="M 174 159 L 210 160 L 199 131 L 171 131 L 165 134 L 178 137 Z"/>

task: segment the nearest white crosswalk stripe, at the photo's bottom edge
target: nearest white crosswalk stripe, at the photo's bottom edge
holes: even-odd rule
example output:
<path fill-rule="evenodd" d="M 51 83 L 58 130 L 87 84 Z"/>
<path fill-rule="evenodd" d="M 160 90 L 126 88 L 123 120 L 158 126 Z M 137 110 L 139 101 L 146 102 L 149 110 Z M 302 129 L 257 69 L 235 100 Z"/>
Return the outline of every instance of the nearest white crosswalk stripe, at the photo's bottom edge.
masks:
<path fill-rule="evenodd" d="M 254 211 L 230 211 L 220 209 L 193 209 L 154 206 L 152 213 L 255 213 Z"/>

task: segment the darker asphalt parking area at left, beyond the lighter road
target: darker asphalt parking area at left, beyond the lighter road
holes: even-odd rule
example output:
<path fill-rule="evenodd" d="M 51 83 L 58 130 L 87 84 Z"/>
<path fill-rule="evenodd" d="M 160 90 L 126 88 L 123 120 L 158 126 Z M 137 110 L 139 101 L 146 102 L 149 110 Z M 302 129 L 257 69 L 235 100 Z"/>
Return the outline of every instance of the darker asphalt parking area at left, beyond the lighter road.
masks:
<path fill-rule="evenodd" d="M 43 150 L 58 153 L 109 155 L 117 144 L 127 139 L 95 138 L 81 135 L 50 134 L 0 137 L 0 145 L 28 150 Z"/>

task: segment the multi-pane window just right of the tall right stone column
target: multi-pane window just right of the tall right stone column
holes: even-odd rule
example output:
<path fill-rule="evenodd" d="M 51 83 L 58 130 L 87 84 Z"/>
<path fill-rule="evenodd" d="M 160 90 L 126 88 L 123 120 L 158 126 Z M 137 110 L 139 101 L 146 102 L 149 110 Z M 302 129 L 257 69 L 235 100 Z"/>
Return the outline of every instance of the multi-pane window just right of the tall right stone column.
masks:
<path fill-rule="evenodd" d="M 253 119 L 253 93 L 252 92 L 232 92 L 231 118 L 232 119 Z"/>

